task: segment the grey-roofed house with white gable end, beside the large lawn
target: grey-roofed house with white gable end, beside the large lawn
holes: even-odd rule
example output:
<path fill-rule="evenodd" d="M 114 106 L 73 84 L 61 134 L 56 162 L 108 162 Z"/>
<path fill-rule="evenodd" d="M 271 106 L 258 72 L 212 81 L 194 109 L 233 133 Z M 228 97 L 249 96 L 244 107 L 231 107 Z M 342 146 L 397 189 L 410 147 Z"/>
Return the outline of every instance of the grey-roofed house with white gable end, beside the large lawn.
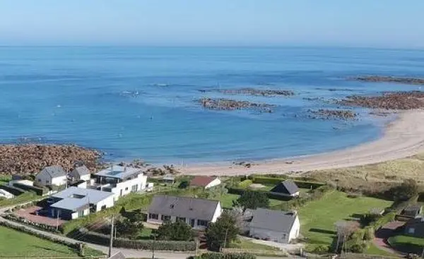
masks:
<path fill-rule="evenodd" d="M 297 212 L 258 208 L 251 213 L 249 236 L 278 243 L 290 243 L 298 238 L 300 221 Z"/>

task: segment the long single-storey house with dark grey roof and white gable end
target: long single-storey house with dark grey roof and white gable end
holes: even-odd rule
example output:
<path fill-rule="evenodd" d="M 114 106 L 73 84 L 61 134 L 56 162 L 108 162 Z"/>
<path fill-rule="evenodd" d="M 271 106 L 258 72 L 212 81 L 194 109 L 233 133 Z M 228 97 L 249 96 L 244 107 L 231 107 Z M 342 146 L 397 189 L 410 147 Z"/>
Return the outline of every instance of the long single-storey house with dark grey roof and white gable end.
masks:
<path fill-rule="evenodd" d="M 216 222 L 221 213 L 222 208 L 218 200 L 155 195 L 148 207 L 147 222 L 162 224 L 167 220 L 181 220 L 194 229 L 206 229 L 208 224 Z"/>

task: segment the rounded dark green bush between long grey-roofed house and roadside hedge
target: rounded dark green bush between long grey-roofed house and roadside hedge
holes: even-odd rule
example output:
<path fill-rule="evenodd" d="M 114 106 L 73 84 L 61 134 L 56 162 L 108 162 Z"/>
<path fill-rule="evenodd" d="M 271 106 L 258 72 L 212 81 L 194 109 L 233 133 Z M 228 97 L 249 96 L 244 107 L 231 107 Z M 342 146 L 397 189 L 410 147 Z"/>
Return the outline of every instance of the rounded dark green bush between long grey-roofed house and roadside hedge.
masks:
<path fill-rule="evenodd" d="M 193 239 L 192 227 L 182 220 L 165 221 L 156 231 L 159 240 L 190 241 Z"/>

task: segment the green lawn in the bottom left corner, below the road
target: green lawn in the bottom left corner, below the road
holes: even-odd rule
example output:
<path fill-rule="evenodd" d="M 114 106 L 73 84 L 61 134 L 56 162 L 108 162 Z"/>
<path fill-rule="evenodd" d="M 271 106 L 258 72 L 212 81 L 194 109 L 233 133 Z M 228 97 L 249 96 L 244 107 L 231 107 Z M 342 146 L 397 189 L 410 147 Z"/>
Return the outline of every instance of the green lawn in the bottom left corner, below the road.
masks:
<path fill-rule="evenodd" d="M 2 257 L 78 256 L 78 253 L 68 246 L 59 245 L 6 227 L 0 227 L 0 242 L 0 255 Z"/>

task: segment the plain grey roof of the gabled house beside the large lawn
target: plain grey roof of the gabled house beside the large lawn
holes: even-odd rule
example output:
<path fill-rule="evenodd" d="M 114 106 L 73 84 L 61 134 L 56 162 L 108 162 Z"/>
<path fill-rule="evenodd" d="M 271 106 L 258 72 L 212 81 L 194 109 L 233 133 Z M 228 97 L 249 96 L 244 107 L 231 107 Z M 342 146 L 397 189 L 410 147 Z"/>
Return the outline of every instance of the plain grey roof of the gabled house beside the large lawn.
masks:
<path fill-rule="evenodd" d="M 258 208 L 253 212 L 253 219 L 250 226 L 288 233 L 296 217 L 298 216 L 295 212 Z"/>

